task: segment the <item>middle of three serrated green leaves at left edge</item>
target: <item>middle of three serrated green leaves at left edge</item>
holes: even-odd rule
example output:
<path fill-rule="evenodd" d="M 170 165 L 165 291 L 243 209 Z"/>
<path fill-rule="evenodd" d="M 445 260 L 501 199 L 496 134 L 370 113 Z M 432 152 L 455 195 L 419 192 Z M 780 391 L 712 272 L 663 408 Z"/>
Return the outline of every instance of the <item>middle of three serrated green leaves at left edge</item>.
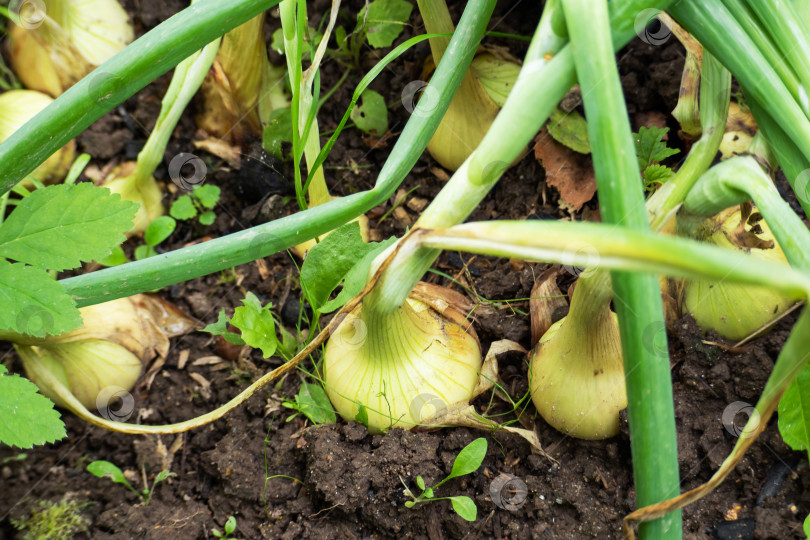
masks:
<path fill-rule="evenodd" d="M 73 298 L 45 270 L 0 260 L 0 330 L 45 337 L 82 323 Z"/>

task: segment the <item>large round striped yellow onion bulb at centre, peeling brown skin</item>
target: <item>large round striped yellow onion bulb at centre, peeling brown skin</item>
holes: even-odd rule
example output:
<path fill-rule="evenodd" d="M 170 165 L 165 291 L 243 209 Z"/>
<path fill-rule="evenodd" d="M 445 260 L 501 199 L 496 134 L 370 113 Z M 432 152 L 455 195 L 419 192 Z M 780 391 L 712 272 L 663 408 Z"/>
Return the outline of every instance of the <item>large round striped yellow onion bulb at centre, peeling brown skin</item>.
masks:
<path fill-rule="evenodd" d="M 426 289 L 432 299 L 420 294 Z M 380 432 L 413 428 L 470 400 L 481 348 L 463 324 L 459 296 L 420 284 L 391 315 L 372 319 L 362 304 L 347 315 L 324 353 L 326 392 L 337 412 Z"/>

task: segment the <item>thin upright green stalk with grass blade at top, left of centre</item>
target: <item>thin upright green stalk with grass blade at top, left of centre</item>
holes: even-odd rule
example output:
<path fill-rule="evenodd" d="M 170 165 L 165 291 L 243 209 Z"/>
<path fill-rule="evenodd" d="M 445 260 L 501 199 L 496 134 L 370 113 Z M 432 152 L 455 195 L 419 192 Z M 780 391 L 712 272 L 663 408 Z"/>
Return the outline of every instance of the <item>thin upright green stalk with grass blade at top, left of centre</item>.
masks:
<path fill-rule="evenodd" d="M 304 34 L 308 30 L 306 2 L 300 0 L 283 0 L 279 5 L 281 14 L 281 28 L 284 36 L 284 56 L 287 59 L 287 72 L 292 88 L 292 125 L 293 125 L 293 166 L 295 171 L 295 193 L 298 205 L 302 210 L 309 207 L 320 206 L 332 201 L 326 186 L 326 177 L 322 163 L 318 163 L 321 152 L 321 143 L 318 132 L 318 107 L 315 104 L 313 85 L 318 81 L 318 69 L 326 44 L 335 25 L 337 10 L 340 3 L 332 5 L 329 22 L 317 51 L 310 51 L 312 64 L 306 71 L 302 70 L 301 59 L 304 54 Z M 311 40 L 308 41 L 311 43 Z M 303 145 L 303 148 L 302 148 Z M 301 157 L 306 159 L 309 175 L 304 183 L 301 178 Z M 309 198 L 304 197 L 304 191 Z M 360 215 L 356 218 L 360 224 L 360 234 L 364 241 L 368 241 L 368 218 Z M 293 252 L 304 257 L 307 251 L 315 245 L 316 239 L 308 239 L 293 248 Z"/>

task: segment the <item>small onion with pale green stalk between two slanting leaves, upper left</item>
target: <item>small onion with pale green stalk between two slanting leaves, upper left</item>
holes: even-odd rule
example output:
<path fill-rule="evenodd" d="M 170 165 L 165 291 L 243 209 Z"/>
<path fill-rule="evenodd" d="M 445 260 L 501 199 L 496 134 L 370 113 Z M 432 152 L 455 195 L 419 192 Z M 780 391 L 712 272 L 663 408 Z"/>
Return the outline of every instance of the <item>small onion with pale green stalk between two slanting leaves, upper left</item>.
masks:
<path fill-rule="evenodd" d="M 137 161 L 119 165 L 102 183 L 113 193 L 119 193 L 122 198 L 140 205 L 128 235 L 145 231 L 152 221 L 163 215 L 163 192 L 152 175 L 163 159 L 169 137 L 186 105 L 211 68 L 219 42 L 219 39 L 212 41 L 177 65 L 166 95 L 163 96 L 155 128 L 138 153 Z M 194 180 L 197 180 L 196 175 Z"/>

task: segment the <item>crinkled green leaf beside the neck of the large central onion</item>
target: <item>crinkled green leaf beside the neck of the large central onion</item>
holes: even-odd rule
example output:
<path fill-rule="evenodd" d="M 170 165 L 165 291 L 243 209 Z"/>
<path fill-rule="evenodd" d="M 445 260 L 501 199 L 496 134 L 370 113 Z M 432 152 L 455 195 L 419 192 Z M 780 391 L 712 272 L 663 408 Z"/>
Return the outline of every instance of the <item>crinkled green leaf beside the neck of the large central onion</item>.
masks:
<path fill-rule="evenodd" d="M 393 241 L 366 244 L 360 225 L 352 221 L 313 246 L 301 266 L 301 287 L 313 309 L 329 313 L 359 293 L 374 257 Z M 329 302 L 329 295 L 341 283 L 344 290 Z"/>

